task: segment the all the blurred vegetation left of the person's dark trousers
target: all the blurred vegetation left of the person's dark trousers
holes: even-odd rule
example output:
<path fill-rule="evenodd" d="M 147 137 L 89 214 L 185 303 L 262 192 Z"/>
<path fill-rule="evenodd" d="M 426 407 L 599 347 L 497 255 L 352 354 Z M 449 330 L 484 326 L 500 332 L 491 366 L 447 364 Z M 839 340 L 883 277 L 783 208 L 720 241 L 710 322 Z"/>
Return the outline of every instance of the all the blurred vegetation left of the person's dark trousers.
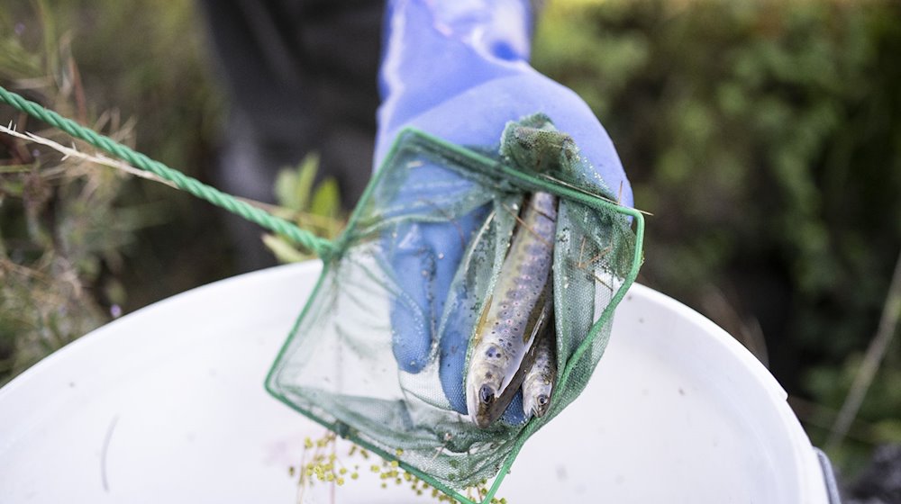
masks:
<path fill-rule="evenodd" d="M 220 107 L 192 8 L 7 2 L 0 84 L 203 177 Z M 95 151 L 7 107 L 0 121 Z M 227 275 L 219 236 L 187 195 L 2 135 L 0 383 L 123 311 Z"/>

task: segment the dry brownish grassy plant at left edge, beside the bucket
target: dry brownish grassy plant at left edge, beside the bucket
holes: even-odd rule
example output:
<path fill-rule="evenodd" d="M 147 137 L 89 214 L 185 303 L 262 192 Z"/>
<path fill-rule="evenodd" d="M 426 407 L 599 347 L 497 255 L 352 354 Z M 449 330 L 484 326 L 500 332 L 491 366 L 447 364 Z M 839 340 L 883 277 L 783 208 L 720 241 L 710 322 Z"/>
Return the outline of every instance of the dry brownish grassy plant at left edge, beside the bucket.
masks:
<path fill-rule="evenodd" d="M 36 4 L 38 19 L 51 25 Z M 131 143 L 132 126 L 114 113 L 88 112 L 68 41 L 42 31 L 37 49 L 23 25 L 0 14 L 0 78 L 5 85 Z M 73 144 L 9 109 L 0 121 Z M 147 224 L 141 208 L 119 199 L 124 176 L 77 157 L 3 134 L 0 152 L 0 383 L 108 320 L 123 302 L 123 249 Z M 109 219 L 115 215 L 115 219 Z"/>

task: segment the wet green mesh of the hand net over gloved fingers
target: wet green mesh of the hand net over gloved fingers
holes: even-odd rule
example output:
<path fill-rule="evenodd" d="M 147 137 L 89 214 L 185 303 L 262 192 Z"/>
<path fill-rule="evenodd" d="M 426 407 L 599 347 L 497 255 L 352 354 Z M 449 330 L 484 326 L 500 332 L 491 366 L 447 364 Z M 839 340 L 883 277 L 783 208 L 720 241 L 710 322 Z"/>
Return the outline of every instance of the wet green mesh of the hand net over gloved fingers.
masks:
<path fill-rule="evenodd" d="M 502 469 L 503 477 L 525 438 L 576 399 L 641 259 L 633 230 L 641 216 L 615 203 L 547 117 L 511 123 L 500 140 L 499 148 L 459 148 L 415 130 L 398 137 L 335 253 L 323 257 L 319 283 L 268 376 L 282 401 L 443 489 Z M 461 401 L 468 361 L 449 355 L 469 348 L 505 273 L 517 210 L 537 191 L 559 197 L 557 383 L 542 418 L 523 419 L 517 398 L 503 418 L 478 428 Z M 441 261 L 453 263 L 449 281 L 434 275 Z M 411 275 L 411 267 L 421 271 Z M 411 291 L 411 277 L 423 292 Z M 399 324 L 423 338 L 403 345 Z"/>

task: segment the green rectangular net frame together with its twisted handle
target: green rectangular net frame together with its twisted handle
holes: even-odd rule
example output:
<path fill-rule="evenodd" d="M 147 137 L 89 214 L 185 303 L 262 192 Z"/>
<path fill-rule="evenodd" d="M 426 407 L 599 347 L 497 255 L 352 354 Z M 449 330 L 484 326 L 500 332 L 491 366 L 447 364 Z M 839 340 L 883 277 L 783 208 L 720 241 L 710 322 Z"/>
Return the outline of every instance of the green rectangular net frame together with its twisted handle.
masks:
<path fill-rule="evenodd" d="M 86 143 L 94 146 L 95 148 L 99 148 L 114 157 L 123 159 L 125 162 L 131 164 L 136 168 L 147 171 L 154 175 L 158 175 L 160 178 L 167 180 L 172 184 L 175 184 L 176 187 L 180 190 L 191 193 L 200 199 L 203 199 L 227 211 L 231 211 L 232 213 L 240 215 L 246 220 L 255 222 L 265 229 L 269 229 L 282 236 L 285 236 L 286 238 L 295 242 L 297 245 L 305 247 L 313 251 L 318 257 L 321 257 L 323 260 L 322 274 L 316 282 L 313 294 L 311 294 L 310 299 L 306 302 L 304 310 L 301 311 L 299 317 L 296 320 L 295 327 L 291 332 L 292 335 L 295 333 L 296 328 L 300 324 L 301 320 L 304 320 L 304 317 L 310 307 L 311 300 L 315 298 L 315 293 L 322 286 L 323 279 L 326 277 L 326 275 L 328 275 L 330 267 L 340 259 L 341 253 L 348 247 L 348 240 L 351 231 L 357 225 L 361 209 L 364 207 L 364 203 L 372 197 L 373 187 L 378 184 L 378 181 L 385 174 L 385 170 L 380 169 L 377 174 L 374 175 L 373 180 L 369 183 L 366 191 L 363 193 L 360 203 L 358 204 L 355 211 L 351 214 L 348 227 L 341 233 L 341 236 L 337 240 L 332 242 L 328 239 L 317 237 L 313 233 L 306 231 L 305 229 L 300 229 L 294 223 L 288 220 L 284 220 L 271 215 L 267 211 L 250 205 L 248 202 L 238 200 L 230 194 L 223 193 L 212 186 L 203 184 L 192 177 L 184 175 L 181 172 L 160 163 L 159 161 L 156 161 L 144 154 L 141 154 L 140 152 L 133 150 L 132 148 L 123 146 L 122 144 L 116 142 L 114 139 L 110 139 L 109 137 L 101 135 L 94 130 L 90 130 L 85 126 L 78 124 L 76 121 L 62 117 L 58 113 L 52 112 L 42 107 L 39 103 L 28 101 L 21 95 L 6 90 L 3 86 L 0 86 L 0 102 L 7 103 L 20 112 L 24 112 L 36 119 L 47 122 L 51 126 L 65 131 L 73 138 L 84 140 L 86 141 Z M 484 157 L 475 151 L 469 150 L 468 148 L 462 148 L 458 145 L 452 144 L 443 139 L 436 138 L 432 135 L 424 133 L 423 131 L 415 130 L 412 128 L 402 130 L 398 134 L 397 139 L 390 149 L 382 166 L 387 166 L 387 164 L 390 163 L 390 161 L 399 154 L 401 149 L 405 148 L 406 146 L 414 146 L 415 148 L 420 148 L 424 151 L 430 151 L 432 153 L 440 154 L 443 157 L 451 157 L 456 163 L 459 163 L 460 166 L 466 166 L 474 171 L 493 174 L 499 173 L 506 181 L 509 182 L 509 184 L 511 184 L 511 186 L 517 187 L 520 190 L 540 190 L 554 193 L 561 198 L 580 202 L 590 208 L 613 211 L 615 213 L 627 216 L 633 220 L 635 227 L 635 242 L 632 265 L 630 266 L 628 274 L 623 278 L 623 284 L 621 284 L 619 289 L 616 290 L 613 297 L 611 298 L 611 301 L 605 306 L 605 309 L 604 311 L 602 311 L 601 316 L 592 325 L 586 338 L 581 342 L 573 355 L 569 358 L 567 366 L 560 374 L 558 383 L 566 383 L 573 367 L 577 365 L 580 357 L 587 351 L 587 348 L 591 346 L 592 342 L 595 340 L 596 336 L 603 328 L 605 323 L 611 320 L 616 306 L 623 300 L 625 293 L 628 291 L 629 287 L 634 283 L 635 278 L 638 276 L 638 271 L 642 265 L 643 259 L 642 250 L 644 239 L 644 217 L 642 215 L 642 212 L 637 211 L 633 208 L 625 207 L 618 202 L 610 201 L 603 197 L 597 196 L 596 194 L 578 190 L 578 188 L 561 185 L 551 181 L 550 179 L 542 178 L 541 176 L 523 173 L 515 169 L 514 167 L 506 166 L 505 164 L 500 163 L 494 159 Z M 279 401 L 285 402 L 287 406 L 291 407 L 292 409 L 304 414 L 305 417 L 312 419 L 314 422 L 322 425 L 323 427 L 332 430 L 337 435 L 350 439 L 350 441 L 357 443 L 359 446 L 363 446 L 369 449 L 370 451 L 381 456 L 387 461 L 396 461 L 398 465 L 406 472 L 414 474 L 416 477 L 423 480 L 423 482 L 429 483 L 430 485 L 432 485 L 432 487 L 445 492 L 446 494 L 451 496 L 451 498 L 465 504 L 478 504 L 478 502 L 487 504 L 494 498 L 496 491 L 504 481 L 506 474 L 510 472 L 510 469 L 514 463 L 514 459 L 516 458 L 516 455 L 519 454 L 519 451 L 522 449 L 523 444 L 541 425 L 540 423 L 535 421 L 536 419 L 532 419 L 524 426 L 519 435 L 516 437 L 513 450 L 505 458 L 500 471 L 497 473 L 494 481 L 488 488 L 485 498 L 481 501 L 471 500 L 466 496 L 461 495 L 459 491 L 456 491 L 441 482 L 435 481 L 434 478 L 432 478 L 432 476 L 430 476 L 428 473 L 424 473 L 422 470 L 399 460 L 396 455 L 387 453 L 385 450 L 379 448 L 378 446 L 373 446 L 372 444 L 368 443 L 365 439 L 359 438 L 355 435 L 354 432 L 352 432 L 350 428 L 348 428 L 346 424 L 342 424 L 341 422 L 335 423 L 325 421 L 316 417 L 312 412 L 300 409 L 291 401 L 287 401 L 287 398 L 284 397 L 283 394 L 280 394 L 277 389 L 276 376 L 274 375 L 274 372 L 278 362 L 285 357 L 289 341 L 290 338 L 288 338 L 286 344 L 279 351 L 278 357 L 276 359 L 276 364 L 272 366 L 267 376 L 266 389 L 270 394 L 278 398 Z"/>

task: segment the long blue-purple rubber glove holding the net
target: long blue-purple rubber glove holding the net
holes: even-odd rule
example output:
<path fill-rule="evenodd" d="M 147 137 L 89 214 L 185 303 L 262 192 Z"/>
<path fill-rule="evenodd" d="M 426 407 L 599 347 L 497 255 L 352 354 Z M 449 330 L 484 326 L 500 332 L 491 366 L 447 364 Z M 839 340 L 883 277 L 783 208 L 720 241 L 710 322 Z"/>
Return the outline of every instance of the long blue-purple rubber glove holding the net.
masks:
<path fill-rule="evenodd" d="M 376 166 L 405 126 L 458 145 L 490 147 L 499 143 L 507 121 L 543 112 L 575 139 L 607 187 L 622 191 L 623 204 L 632 205 L 613 143 L 587 104 L 529 66 L 531 16 L 522 0 L 389 0 Z M 420 223 L 395 238 L 390 261 L 407 301 L 392 306 L 393 350 L 405 372 L 418 373 L 428 364 L 434 321 L 441 318 L 465 247 L 460 236 L 470 236 L 479 224 L 478 216 L 452 226 Z M 466 413 L 463 365 L 469 335 L 461 332 L 441 338 L 440 376 L 451 407 Z M 523 420 L 521 401 L 514 400 L 505 420 Z"/>

